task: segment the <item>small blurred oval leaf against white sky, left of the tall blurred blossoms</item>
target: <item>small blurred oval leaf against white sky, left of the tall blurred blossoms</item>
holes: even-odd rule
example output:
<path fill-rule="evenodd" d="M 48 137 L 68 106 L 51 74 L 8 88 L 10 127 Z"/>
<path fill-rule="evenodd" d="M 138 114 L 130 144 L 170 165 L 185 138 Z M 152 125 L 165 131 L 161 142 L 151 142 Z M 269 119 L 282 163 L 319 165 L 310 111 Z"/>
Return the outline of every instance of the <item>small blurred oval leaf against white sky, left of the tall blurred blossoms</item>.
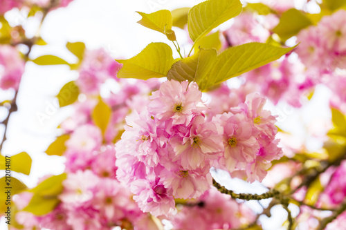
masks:
<path fill-rule="evenodd" d="M 78 86 L 76 86 L 75 82 L 68 82 L 57 94 L 57 99 L 59 99 L 60 107 L 68 106 L 73 104 L 78 99 L 78 95 L 80 95 L 80 90 Z"/>

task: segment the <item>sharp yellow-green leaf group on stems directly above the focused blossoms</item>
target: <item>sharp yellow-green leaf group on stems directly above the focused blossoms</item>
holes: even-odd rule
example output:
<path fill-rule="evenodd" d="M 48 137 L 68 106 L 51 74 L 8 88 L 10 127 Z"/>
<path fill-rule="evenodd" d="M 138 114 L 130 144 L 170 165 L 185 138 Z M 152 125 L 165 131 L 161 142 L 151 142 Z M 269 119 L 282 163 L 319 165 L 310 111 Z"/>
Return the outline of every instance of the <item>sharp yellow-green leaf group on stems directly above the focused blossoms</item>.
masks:
<path fill-rule="evenodd" d="M 264 11 L 271 11 L 262 5 L 250 4 L 248 7 L 262 10 L 262 14 L 265 14 Z M 123 64 L 118 77 L 143 80 L 167 77 L 178 81 L 188 80 L 197 82 L 199 88 L 206 91 L 231 77 L 264 66 L 293 50 L 271 44 L 251 43 L 231 47 L 220 53 L 220 33 L 210 32 L 240 12 L 242 3 L 239 0 L 208 0 L 192 8 L 180 8 L 172 12 L 138 12 L 142 16 L 138 23 L 166 35 L 173 41 L 181 58 L 174 60 L 172 49 L 167 44 L 152 43 L 130 59 L 116 60 Z M 184 28 L 186 25 L 194 44 L 188 57 L 183 57 L 172 27 Z M 190 56 L 193 50 L 194 54 Z"/>

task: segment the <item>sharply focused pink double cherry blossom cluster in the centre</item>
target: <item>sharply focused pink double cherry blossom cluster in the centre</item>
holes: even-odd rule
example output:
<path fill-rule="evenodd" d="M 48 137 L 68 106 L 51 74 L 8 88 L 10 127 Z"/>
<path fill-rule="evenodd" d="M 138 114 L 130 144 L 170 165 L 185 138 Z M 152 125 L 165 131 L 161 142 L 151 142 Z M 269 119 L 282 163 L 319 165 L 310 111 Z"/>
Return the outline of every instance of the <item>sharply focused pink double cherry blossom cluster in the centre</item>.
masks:
<path fill-rule="evenodd" d="M 264 97 L 248 95 L 230 113 L 207 121 L 201 96 L 194 82 L 167 81 L 147 109 L 126 119 L 116 143 L 117 176 L 145 212 L 166 215 L 174 198 L 198 198 L 210 189 L 212 166 L 261 181 L 282 156 L 275 117 L 262 109 Z"/>

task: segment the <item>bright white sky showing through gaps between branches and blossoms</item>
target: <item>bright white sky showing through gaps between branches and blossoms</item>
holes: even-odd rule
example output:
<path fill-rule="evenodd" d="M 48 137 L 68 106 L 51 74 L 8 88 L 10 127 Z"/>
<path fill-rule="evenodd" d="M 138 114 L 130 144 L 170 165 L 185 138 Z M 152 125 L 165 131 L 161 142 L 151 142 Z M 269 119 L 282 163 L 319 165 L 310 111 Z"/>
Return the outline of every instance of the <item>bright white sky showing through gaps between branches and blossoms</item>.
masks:
<path fill-rule="evenodd" d="M 136 23 L 141 17 L 135 11 L 173 10 L 194 6 L 200 2 L 198 0 L 75 0 L 67 8 L 60 8 L 48 14 L 42 26 L 42 38 L 48 45 L 35 46 L 31 57 L 57 55 L 73 62 L 75 57 L 65 48 L 67 41 L 83 41 L 90 49 L 104 47 L 114 58 L 132 57 L 152 41 L 167 42 L 164 35 Z M 12 13 L 11 17 L 24 22 L 28 31 L 37 26 L 36 21 L 25 21 L 19 12 Z M 229 25 L 230 23 L 226 23 L 222 27 L 227 28 Z M 176 35 L 181 46 L 187 44 L 185 32 L 176 28 Z M 35 186 L 38 178 L 43 175 L 57 175 L 64 171 L 63 157 L 47 156 L 44 151 L 60 134 L 57 133 L 56 127 L 71 113 L 71 108 L 57 109 L 55 95 L 66 82 L 77 77 L 78 73 L 69 70 L 67 66 L 36 66 L 30 61 L 26 65 L 18 95 L 19 110 L 10 117 L 8 141 L 3 146 L 2 154 L 13 155 L 26 151 L 31 155 L 33 166 L 30 176 L 18 176 L 28 186 Z M 304 136 L 299 128 L 304 126 L 301 120 L 309 124 L 313 120 L 319 121 L 330 116 L 327 110 L 328 97 L 326 97 L 329 92 L 325 88 L 319 88 L 318 92 L 322 93 L 317 93 L 303 111 L 293 109 L 286 104 L 279 104 L 277 108 L 268 106 L 273 113 L 282 116 L 280 127 L 298 134 L 297 142 L 300 142 L 300 138 Z M 9 95 L 11 92 L 0 93 L 0 99 Z M 44 113 L 49 119 L 40 122 L 37 113 Z M 5 110 L 0 108 L 0 119 L 4 115 L 6 115 Z M 2 132 L 1 126 L 0 133 Z M 250 187 L 244 183 L 237 183 L 233 187 L 230 184 L 230 188 L 239 192 L 251 192 L 253 188 L 257 189 L 257 193 L 264 191 L 256 183 Z M 271 224 L 267 222 L 264 225 L 265 229 L 280 228 L 280 224 L 286 218 L 285 211 L 280 210 L 275 209 L 273 218 L 277 219 L 277 222 Z M 3 225 L 0 224 L 0 228 L 4 229 Z"/>

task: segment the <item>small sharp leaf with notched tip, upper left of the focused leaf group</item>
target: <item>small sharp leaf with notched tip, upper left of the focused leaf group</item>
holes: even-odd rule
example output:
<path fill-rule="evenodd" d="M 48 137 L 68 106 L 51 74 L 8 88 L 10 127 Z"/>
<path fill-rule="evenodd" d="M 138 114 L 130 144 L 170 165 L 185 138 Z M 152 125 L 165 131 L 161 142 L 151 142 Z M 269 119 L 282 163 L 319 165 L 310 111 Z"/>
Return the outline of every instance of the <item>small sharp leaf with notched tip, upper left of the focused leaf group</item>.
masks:
<path fill-rule="evenodd" d="M 138 11 L 137 11 L 138 12 Z M 166 30 L 172 29 L 172 15 L 170 10 L 158 10 L 151 14 L 138 12 L 143 18 L 138 21 L 140 25 L 165 34 Z"/>

